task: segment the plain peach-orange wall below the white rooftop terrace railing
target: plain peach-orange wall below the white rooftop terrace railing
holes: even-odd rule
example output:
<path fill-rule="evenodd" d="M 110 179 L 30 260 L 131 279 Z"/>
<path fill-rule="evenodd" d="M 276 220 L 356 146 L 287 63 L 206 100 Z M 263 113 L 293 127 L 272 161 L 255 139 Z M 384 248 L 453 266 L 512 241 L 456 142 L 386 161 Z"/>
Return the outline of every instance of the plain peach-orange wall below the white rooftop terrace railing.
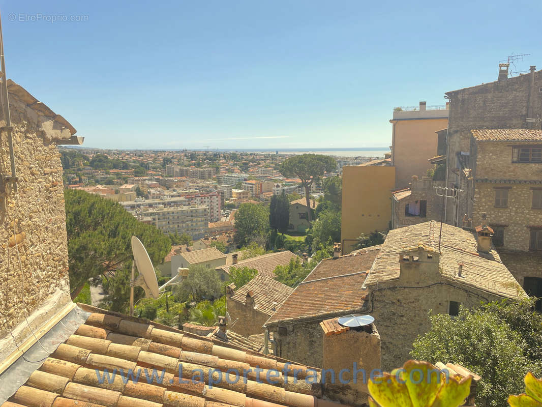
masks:
<path fill-rule="evenodd" d="M 422 177 L 437 155 L 437 130 L 446 129 L 447 118 L 390 120 L 393 124 L 393 166 L 396 188 L 406 188 L 412 175 Z"/>

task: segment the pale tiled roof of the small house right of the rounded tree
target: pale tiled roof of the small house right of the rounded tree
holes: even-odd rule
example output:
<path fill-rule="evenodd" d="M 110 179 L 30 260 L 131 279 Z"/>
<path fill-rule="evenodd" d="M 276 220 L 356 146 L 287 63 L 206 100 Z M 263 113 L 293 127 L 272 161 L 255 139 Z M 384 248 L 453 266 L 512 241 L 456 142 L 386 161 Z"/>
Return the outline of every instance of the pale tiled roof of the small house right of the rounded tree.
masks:
<path fill-rule="evenodd" d="M 294 292 L 292 287 L 282 284 L 272 278 L 257 274 L 248 283 L 238 288 L 231 299 L 244 303 L 248 291 L 254 293 L 254 303 L 257 309 L 271 316 Z M 276 303 L 276 304 L 273 304 Z"/>

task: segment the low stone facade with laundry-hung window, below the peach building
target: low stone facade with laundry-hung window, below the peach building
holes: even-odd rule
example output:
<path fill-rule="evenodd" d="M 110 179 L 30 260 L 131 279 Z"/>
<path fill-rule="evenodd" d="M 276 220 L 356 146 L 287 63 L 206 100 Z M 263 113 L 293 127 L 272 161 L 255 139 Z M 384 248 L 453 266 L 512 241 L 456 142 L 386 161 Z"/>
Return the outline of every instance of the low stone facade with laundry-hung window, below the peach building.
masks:
<path fill-rule="evenodd" d="M 429 177 L 412 177 L 410 194 L 401 198 L 401 192 L 392 194 L 392 228 L 416 225 L 428 220 L 440 220 L 442 217 L 442 197 L 436 194 L 435 186 L 444 186 L 443 181 L 434 181 Z M 442 193 L 442 191 L 440 192 Z M 426 202 L 425 216 L 409 216 L 405 214 L 405 206 L 416 201 Z"/>

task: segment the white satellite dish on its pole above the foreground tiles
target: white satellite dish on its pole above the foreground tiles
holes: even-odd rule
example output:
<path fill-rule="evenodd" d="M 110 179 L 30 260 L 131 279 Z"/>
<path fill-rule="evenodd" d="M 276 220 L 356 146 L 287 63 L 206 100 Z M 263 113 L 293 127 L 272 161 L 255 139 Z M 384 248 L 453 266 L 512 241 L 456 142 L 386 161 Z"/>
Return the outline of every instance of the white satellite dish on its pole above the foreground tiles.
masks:
<path fill-rule="evenodd" d="M 134 259 L 132 260 L 132 278 L 130 279 L 130 316 L 134 315 L 134 289 L 136 285 L 145 290 L 145 297 L 153 298 L 157 300 L 161 293 L 163 293 L 166 287 L 170 285 L 180 284 L 186 276 L 188 276 L 188 269 L 177 269 L 177 275 L 172 277 L 167 283 L 158 287 L 158 280 L 156 279 L 156 273 L 154 272 L 154 266 L 152 265 L 149 253 L 145 249 L 141 240 L 132 236 L 132 253 Z M 135 278 L 135 267 L 139 276 Z"/>

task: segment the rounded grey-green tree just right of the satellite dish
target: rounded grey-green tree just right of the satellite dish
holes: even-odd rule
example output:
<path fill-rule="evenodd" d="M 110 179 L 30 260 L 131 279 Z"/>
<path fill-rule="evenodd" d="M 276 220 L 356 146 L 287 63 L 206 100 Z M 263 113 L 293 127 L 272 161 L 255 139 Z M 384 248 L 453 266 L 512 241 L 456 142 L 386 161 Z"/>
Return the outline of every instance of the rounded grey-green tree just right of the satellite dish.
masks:
<path fill-rule="evenodd" d="M 191 265 L 188 277 L 173 287 L 179 302 L 214 300 L 223 295 L 223 283 L 218 272 L 201 264 Z"/>

